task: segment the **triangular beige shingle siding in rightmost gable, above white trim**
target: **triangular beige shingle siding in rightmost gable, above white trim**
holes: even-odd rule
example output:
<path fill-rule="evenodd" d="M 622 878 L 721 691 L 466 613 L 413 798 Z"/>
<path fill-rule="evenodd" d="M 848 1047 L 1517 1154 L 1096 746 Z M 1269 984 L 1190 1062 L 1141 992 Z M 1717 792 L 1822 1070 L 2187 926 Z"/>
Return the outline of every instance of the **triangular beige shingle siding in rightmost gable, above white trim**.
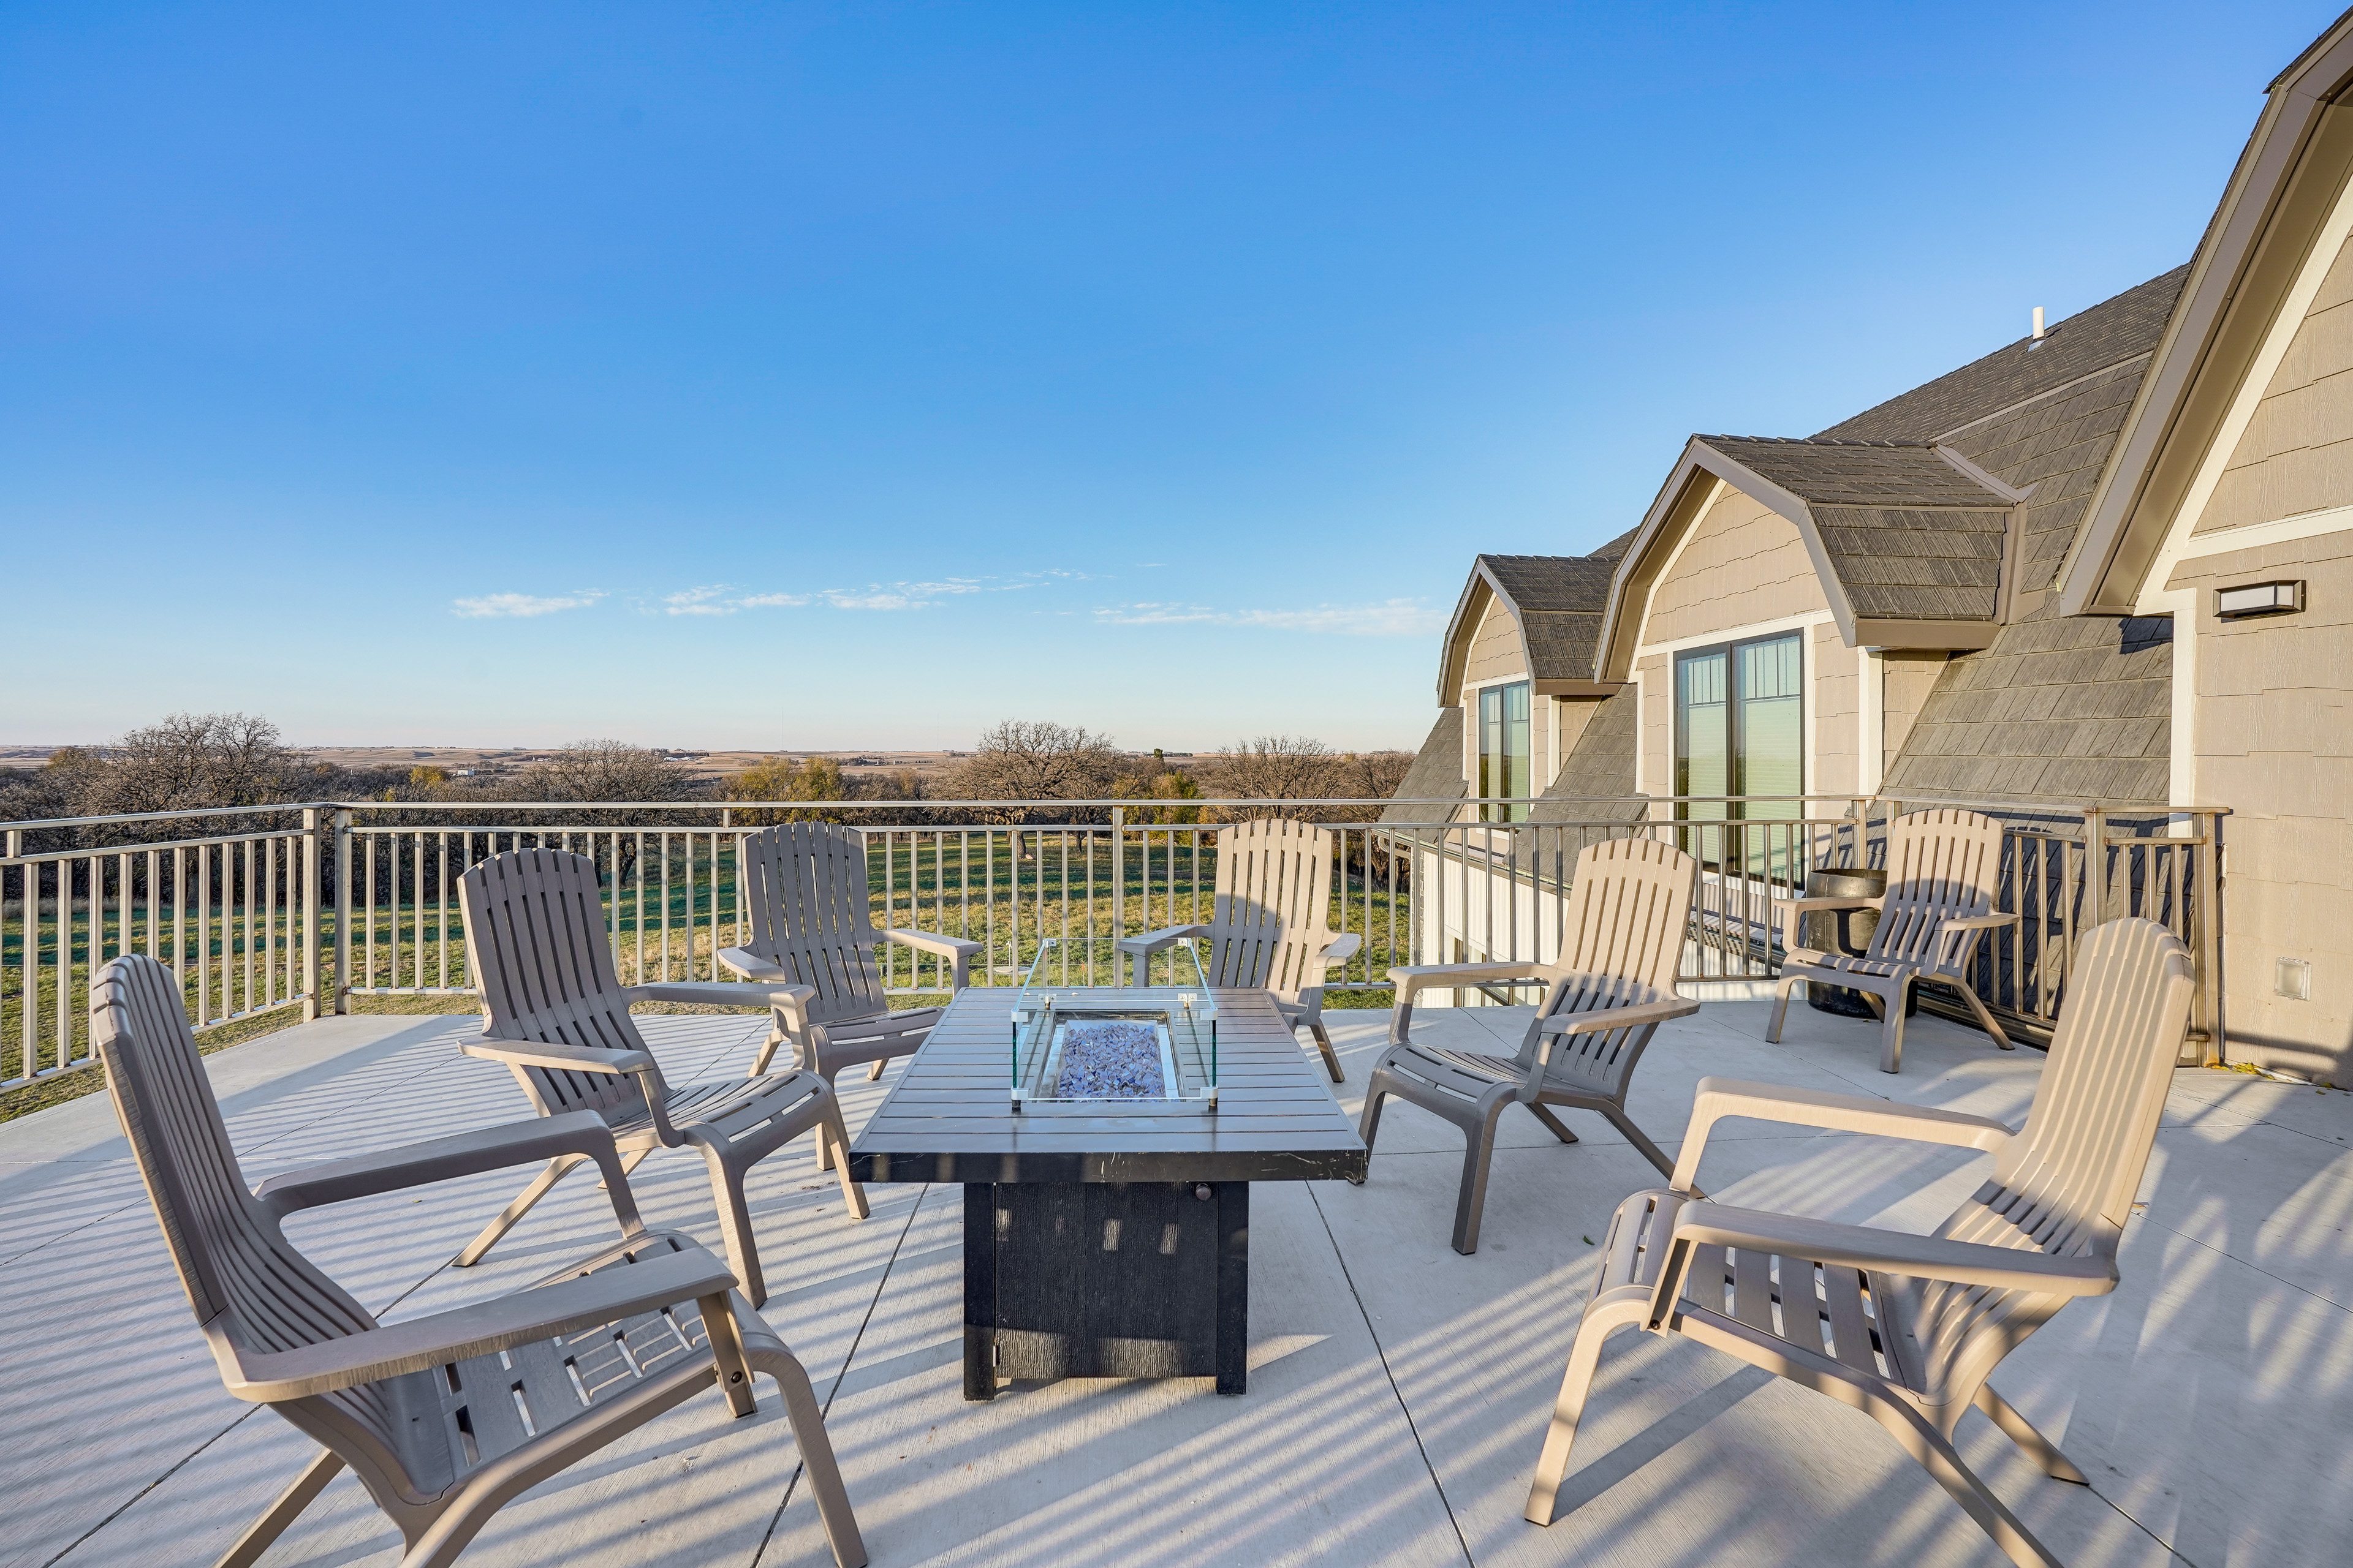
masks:
<path fill-rule="evenodd" d="M 2198 534 L 2353 503 L 2353 240 L 2273 371 Z"/>

